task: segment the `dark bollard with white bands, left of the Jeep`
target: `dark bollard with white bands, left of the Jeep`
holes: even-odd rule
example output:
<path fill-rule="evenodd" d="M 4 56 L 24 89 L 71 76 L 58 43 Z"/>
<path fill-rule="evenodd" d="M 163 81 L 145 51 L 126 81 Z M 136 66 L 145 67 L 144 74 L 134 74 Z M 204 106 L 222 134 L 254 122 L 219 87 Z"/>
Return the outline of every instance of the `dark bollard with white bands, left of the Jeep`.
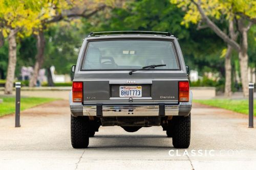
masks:
<path fill-rule="evenodd" d="M 15 83 L 16 88 L 16 99 L 15 99 L 15 128 L 20 127 L 19 117 L 20 117 L 20 82 Z"/>

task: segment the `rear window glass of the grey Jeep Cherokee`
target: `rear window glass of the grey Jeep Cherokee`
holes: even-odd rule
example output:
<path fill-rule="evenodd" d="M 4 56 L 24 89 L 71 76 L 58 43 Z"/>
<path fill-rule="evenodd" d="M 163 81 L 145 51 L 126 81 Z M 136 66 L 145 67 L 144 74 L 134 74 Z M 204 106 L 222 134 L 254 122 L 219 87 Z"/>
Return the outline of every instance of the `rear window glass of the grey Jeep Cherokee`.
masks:
<path fill-rule="evenodd" d="M 108 40 L 89 42 L 83 70 L 138 69 L 166 64 L 157 69 L 179 69 L 172 41 Z"/>

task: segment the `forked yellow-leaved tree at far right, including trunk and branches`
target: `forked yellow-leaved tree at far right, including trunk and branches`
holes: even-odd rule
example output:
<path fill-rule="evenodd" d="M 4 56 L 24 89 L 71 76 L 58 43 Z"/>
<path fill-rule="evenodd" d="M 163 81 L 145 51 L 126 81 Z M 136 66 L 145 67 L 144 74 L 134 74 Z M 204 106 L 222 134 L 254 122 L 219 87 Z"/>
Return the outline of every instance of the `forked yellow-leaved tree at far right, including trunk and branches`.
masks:
<path fill-rule="evenodd" d="M 239 54 L 241 80 L 244 96 L 248 96 L 248 42 L 247 32 L 253 23 L 256 23 L 256 4 L 252 0 L 248 1 L 194 1 L 194 0 L 171 0 L 179 7 L 186 8 L 183 24 L 188 26 L 189 22 L 204 22 L 208 28 L 214 31 L 228 45 Z M 235 20 L 239 33 L 239 40 L 234 40 L 222 31 L 211 18 Z"/>

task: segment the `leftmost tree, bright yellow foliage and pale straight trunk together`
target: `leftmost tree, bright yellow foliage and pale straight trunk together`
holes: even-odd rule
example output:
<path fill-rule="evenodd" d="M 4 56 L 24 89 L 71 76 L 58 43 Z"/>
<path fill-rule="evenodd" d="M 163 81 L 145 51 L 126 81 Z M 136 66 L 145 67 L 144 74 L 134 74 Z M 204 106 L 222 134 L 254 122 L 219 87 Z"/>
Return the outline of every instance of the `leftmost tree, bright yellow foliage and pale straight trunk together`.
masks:
<path fill-rule="evenodd" d="M 5 94 L 12 94 L 16 66 L 16 36 L 24 37 L 32 33 L 32 29 L 38 24 L 38 5 L 40 4 L 32 0 L 0 1 L 0 46 L 4 44 L 4 38 L 7 38 L 9 43 Z"/>

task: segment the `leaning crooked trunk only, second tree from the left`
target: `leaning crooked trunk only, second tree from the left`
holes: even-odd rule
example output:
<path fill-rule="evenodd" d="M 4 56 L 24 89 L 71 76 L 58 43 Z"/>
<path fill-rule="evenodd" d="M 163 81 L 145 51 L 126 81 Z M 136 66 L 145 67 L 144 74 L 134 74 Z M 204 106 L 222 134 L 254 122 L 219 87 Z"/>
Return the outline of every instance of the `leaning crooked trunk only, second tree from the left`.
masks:
<path fill-rule="evenodd" d="M 36 54 L 36 62 L 34 66 L 34 71 L 33 75 L 30 78 L 29 81 L 29 87 L 34 87 L 36 85 L 37 77 L 39 70 L 44 63 L 44 51 L 45 51 L 45 45 L 46 45 L 46 40 L 44 36 L 44 32 L 40 31 L 38 35 L 36 35 L 36 48 L 37 48 L 37 54 Z"/>

